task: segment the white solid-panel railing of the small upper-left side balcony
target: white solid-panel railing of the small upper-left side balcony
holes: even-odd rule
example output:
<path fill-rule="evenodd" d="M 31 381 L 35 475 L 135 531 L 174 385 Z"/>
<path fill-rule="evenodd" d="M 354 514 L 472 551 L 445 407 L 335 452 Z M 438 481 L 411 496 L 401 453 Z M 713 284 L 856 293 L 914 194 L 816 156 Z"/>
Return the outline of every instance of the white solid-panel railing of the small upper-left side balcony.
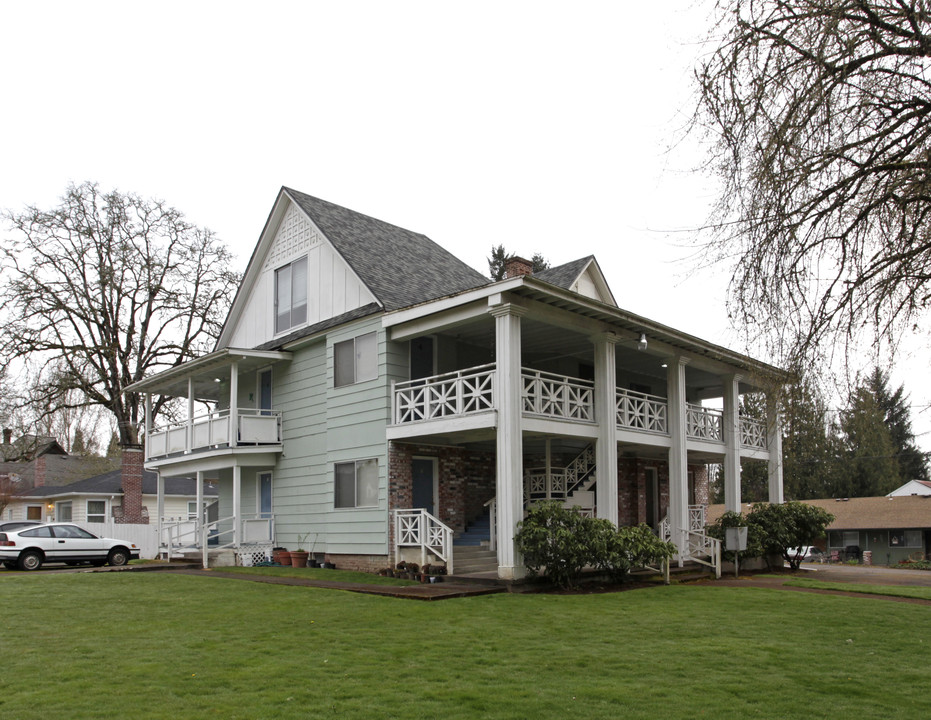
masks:
<path fill-rule="evenodd" d="M 274 445 L 281 442 L 281 413 L 240 409 L 234 427 L 229 410 L 199 415 L 190 421 L 154 429 L 146 442 L 148 458 L 236 445 Z"/>

